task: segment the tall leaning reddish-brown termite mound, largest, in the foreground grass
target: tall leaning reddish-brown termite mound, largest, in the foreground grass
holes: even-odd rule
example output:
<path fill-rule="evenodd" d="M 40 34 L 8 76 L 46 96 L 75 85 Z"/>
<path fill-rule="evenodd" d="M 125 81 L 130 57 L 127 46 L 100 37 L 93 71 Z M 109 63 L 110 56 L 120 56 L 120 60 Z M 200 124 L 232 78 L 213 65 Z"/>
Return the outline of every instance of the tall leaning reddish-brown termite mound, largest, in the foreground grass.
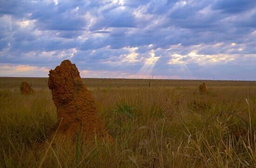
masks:
<path fill-rule="evenodd" d="M 80 131 L 88 140 L 95 136 L 113 141 L 108 135 L 101 116 L 98 114 L 94 98 L 83 85 L 79 71 L 69 60 L 61 62 L 50 70 L 48 87 L 52 90 L 57 107 L 58 132 L 74 137 Z"/>

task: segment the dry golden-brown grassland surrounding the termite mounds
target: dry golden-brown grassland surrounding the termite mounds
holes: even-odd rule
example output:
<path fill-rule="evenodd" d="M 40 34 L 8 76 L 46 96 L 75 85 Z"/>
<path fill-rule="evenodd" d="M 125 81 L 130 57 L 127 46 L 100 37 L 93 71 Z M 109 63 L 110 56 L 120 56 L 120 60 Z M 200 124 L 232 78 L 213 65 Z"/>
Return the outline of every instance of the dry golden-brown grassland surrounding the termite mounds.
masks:
<path fill-rule="evenodd" d="M 21 81 L 34 95 L 20 94 Z M 256 167 L 256 82 L 83 79 L 114 144 L 49 137 L 47 78 L 0 78 L 0 167 Z M 49 145 L 51 144 L 51 145 Z"/>

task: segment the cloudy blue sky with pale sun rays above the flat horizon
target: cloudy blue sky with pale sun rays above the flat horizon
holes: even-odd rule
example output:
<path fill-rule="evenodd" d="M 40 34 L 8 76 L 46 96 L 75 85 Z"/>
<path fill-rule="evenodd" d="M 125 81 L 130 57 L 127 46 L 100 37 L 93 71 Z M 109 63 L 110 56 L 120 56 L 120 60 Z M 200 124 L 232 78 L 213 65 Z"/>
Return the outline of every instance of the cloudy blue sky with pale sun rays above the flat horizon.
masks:
<path fill-rule="evenodd" d="M 256 80 L 256 0 L 0 0 L 0 76 Z"/>

